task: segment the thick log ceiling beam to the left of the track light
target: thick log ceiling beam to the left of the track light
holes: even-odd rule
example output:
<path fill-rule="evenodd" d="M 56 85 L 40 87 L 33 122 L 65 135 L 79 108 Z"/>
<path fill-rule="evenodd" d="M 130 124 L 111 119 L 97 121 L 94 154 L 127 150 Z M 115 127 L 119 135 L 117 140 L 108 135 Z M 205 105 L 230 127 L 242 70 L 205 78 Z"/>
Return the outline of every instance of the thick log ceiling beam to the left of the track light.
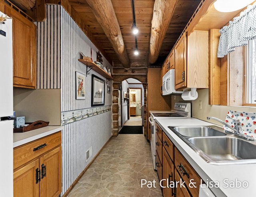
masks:
<path fill-rule="evenodd" d="M 125 68 L 130 68 L 130 60 L 111 0 L 86 0 L 86 2 L 112 44 L 118 59 Z"/>

